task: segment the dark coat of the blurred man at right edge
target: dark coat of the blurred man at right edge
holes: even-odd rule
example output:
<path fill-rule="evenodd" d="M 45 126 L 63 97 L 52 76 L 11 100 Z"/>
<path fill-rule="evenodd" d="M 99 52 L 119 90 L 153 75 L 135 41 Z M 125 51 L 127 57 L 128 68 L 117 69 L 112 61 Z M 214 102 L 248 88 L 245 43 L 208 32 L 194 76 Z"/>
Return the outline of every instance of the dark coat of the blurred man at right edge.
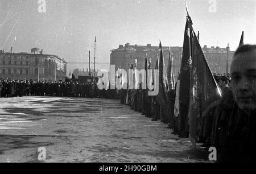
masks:
<path fill-rule="evenodd" d="M 247 114 L 240 109 L 232 115 L 226 130 L 226 140 L 219 155 L 220 163 L 224 161 L 255 164 L 255 115 L 255 112 Z"/>

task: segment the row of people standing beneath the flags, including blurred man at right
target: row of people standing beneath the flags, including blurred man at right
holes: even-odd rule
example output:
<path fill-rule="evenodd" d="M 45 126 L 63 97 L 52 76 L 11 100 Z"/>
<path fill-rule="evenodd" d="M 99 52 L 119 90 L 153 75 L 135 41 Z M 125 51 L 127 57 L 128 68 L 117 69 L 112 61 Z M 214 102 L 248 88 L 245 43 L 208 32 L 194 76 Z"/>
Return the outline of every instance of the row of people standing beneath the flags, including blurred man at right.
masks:
<path fill-rule="evenodd" d="M 215 147 L 217 161 L 255 163 L 256 146 L 256 45 L 242 45 L 234 53 L 229 76 L 215 76 L 221 89 L 221 99 L 201 110 L 197 142 L 203 147 Z M 216 75 L 216 74 L 215 74 Z M 155 96 L 146 90 L 121 90 L 121 103 L 130 105 L 152 121 L 161 119 L 174 129 L 174 134 L 188 137 L 188 117 L 174 115 L 175 91 L 168 93 L 171 103 L 162 110 Z M 180 105 L 180 109 L 188 110 Z M 185 119 L 185 120 L 181 120 Z"/>

